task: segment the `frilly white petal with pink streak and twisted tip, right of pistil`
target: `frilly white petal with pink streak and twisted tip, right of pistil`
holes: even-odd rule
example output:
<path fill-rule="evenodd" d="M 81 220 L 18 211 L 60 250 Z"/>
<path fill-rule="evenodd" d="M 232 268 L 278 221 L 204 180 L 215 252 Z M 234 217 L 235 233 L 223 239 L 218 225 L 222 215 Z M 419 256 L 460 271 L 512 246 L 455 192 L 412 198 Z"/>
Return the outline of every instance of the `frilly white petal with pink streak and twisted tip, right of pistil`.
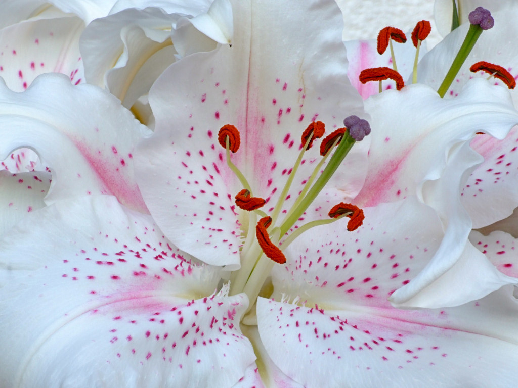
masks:
<path fill-rule="evenodd" d="M 435 257 L 409 285 L 394 292 L 391 301 L 406 307 L 455 306 L 514 282 L 497 271 L 485 278 L 470 267 L 471 260 L 490 263 L 481 255 L 471 255 L 473 249 L 467 247 L 471 219 L 459 200 L 467 177 L 483 161 L 468 141 L 479 131 L 503 139 L 518 123 L 509 93 L 474 79 L 454 99 L 441 99 L 425 85 L 410 85 L 400 92 L 372 96 L 365 104 L 373 133 L 369 171 L 356 204 L 373 206 L 417 195 L 438 212 L 445 229 Z M 482 281 L 478 293 L 462 287 L 469 278 L 463 268 L 471 268 L 472 280 Z M 447 272 L 448 277 L 443 277 Z M 455 292 L 443 287 L 447 279 L 458 279 Z"/>

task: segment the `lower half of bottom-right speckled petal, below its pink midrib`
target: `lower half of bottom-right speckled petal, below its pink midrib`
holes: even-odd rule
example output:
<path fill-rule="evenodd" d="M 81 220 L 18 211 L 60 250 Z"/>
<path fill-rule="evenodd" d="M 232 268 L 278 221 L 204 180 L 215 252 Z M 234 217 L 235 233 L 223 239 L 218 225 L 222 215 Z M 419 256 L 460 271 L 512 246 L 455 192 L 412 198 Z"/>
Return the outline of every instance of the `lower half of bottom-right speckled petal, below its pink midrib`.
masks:
<path fill-rule="evenodd" d="M 308 388 L 512 386 L 516 313 L 509 288 L 442 310 L 327 310 L 257 302 L 268 354 Z"/>

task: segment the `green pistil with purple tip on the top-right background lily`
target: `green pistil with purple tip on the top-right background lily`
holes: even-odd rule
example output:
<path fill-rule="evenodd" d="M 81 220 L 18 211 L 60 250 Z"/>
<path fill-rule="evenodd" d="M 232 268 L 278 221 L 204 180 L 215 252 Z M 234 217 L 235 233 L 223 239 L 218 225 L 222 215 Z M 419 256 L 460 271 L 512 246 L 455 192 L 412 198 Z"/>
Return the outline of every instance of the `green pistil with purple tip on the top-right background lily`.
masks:
<path fill-rule="evenodd" d="M 457 56 L 453 59 L 453 63 L 444 77 L 444 80 L 437 89 L 439 96 L 444 97 L 453 80 L 457 76 L 458 71 L 466 61 L 471 49 L 477 42 L 484 29 L 490 29 L 495 24 L 495 20 L 491 16 L 491 12 L 482 7 L 477 7 L 474 11 L 469 13 L 469 22 L 471 23 L 468 29 L 468 34 L 458 50 Z"/>

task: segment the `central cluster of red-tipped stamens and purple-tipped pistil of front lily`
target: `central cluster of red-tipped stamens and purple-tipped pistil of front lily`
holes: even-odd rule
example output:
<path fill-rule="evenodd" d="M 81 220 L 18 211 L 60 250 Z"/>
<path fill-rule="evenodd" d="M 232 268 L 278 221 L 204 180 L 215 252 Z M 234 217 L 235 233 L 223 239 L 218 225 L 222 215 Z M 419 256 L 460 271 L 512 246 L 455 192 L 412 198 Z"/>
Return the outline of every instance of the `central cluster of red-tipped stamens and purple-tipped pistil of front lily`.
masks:
<path fill-rule="evenodd" d="M 248 227 L 243 231 L 244 243 L 240 248 L 241 268 L 232 272 L 230 276 L 231 295 L 244 292 L 249 297 L 250 305 L 253 306 L 269 277 L 272 267 L 286 262 L 283 250 L 308 229 L 335 222 L 343 217 L 349 217 L 347 224 L 349 231 L 353 231 L 362 225 L 363 211 L 355 205 L 340 203 L 330 210 L 328 219 L 314 220 L 295 227 L 295 223 L 301 220 L 301 216 L 304 215 L 307 208 L 336 172 L 354 143 L 363 140 L 370 133 L 369 123 L 357 116 L 347 117 L 343 121 L 343 125 L 344 128 L 337 129 L 323 139 L 320 146 L 321 160 L 316 164 L 291 207 L 284 209 L 285 198 L 289 197 L 291 185 L 305 152 L 325 132 L 325 126 L 322 122 L 313 122 L 306 128 L 301 136 L 301 151 L 293 169 L 287 175 L 286 183 L 277 203 L 271 210 L 271 214 L 266 214 L 261 210 L 266 200 L 254 196 L 246 177 L 231 160 L 231 152 L 235 153 L 239 150 L 240 135 L 238 129 L 229 124 L 220 129 L 218 142 L 226 150 L 227 165 L 244 187 L 235 196 L 235 202 L 248 215 Z M 323 167 L 326 161 L 327 163 Z M 281 214 L 283 215 L 282 218 L 280 217 Z M 260 217 L 259 220 L 257 220 L 258 217 Z"/>

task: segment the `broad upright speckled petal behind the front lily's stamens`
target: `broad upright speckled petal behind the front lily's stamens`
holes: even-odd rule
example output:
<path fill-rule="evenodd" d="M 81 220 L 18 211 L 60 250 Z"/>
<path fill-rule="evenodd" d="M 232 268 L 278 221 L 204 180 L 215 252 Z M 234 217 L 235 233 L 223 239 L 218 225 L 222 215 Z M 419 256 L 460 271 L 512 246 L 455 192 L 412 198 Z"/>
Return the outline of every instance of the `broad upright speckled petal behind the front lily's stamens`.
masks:
<path fill-rule="evenodd" d="M 272 23 L 271 10 L 281 6 L 290 17 Z M 139 144 L 136 164 L 146 204 L 166 235 L 183 250 L 220 265 L 239 265 L 233 197 L 243 187 L 226 166 L 219 129 L 232 124 L 240 130 L 241 148 L 232 158 L 254 195 L 268 199 L 263 210 L 271 212 L 307 125 L 318 119 L 332 130 L 345 116 L 362 115 L 361 98 L 345 72 L 336 4 L 235 2 L 233 13 L 232 47 L 185 57 L 154 84 L 150 103 L 156 129 Z M 323 30 L 323 23 L 337 28 Z M 293 28 L 300 33 L 293 34 Z M 315 202 L 315 215 L 328 211 L 327 201 L 356 195 L 366 152 L 365 146 L 353 148 L 330 191 Z M 285 206 L 293 203 L 319 158 L 313 147 Z M 348 160 L 354 162 L 348 165 Z"/>

